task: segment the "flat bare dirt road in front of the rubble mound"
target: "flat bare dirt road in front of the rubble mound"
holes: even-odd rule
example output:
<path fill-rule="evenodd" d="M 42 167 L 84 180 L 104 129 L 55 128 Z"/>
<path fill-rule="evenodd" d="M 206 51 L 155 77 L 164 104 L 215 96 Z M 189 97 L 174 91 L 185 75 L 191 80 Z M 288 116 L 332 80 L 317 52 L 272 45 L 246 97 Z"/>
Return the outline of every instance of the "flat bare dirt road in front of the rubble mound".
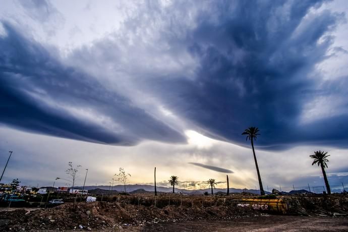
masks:
<path fill-rule="evenodd" d="M 264 216 L 233 221 L 186 221 L 147 225 L 140 231 L 348 231 L 348 218 Z"/>

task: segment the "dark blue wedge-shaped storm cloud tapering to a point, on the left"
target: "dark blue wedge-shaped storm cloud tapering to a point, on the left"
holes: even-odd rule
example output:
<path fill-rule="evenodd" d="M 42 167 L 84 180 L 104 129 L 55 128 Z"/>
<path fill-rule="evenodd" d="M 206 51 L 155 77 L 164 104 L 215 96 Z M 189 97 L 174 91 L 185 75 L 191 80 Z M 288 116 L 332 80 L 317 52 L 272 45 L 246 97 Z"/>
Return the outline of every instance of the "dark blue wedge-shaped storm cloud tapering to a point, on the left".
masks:
<path fill-rule="evenodd" d="M 186 141 L 130 100 L 83 72 L 65 67 L 9 24 L 4 23 L 4 28 L 7 36 L 0 37 L 0 123 L 97 143 Z"/>

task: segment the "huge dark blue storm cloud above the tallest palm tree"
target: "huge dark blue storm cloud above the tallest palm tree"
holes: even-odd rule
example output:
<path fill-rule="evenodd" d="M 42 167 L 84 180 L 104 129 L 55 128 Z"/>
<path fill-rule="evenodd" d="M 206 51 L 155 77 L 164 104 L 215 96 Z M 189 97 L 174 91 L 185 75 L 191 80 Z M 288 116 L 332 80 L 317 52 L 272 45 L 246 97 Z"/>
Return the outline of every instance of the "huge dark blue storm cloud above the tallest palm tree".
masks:
<path fill-rule="evenodd" d="M 183 40 L 199 60 L 195 78 L 156 79 L 154 92 L 210 137 L 244 144 L 241 133 L 256 126 L 261 130 L 257 144 L 269 149 L 298 142 L 346 146 L 347 100 L 339 106 L 343 110 L 301 123 L 306 103 L 331 97 L 341 86 L 309 77 L 329 57 L 334 39 L 329 33 L 344 18 L 310 11 L 322 3 L 214 1 Z M 338 98 L 347 96 L 341 91 Z"/>

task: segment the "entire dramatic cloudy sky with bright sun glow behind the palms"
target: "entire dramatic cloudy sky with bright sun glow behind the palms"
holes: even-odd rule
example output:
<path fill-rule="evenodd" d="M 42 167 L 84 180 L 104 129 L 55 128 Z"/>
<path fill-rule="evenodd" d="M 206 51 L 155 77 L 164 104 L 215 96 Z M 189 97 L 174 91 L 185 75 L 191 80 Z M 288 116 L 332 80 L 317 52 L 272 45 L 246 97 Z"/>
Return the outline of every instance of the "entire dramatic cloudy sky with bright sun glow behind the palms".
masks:
<path fill-rule="evenodd" d="M 341 1 L 1 1 L 2 182 L 322 191 L 348 186 L 348 5 Z M 64 181 L 58 185 L 65 185 Z M 348 188 L 348 187 L 347 187 Z"/>

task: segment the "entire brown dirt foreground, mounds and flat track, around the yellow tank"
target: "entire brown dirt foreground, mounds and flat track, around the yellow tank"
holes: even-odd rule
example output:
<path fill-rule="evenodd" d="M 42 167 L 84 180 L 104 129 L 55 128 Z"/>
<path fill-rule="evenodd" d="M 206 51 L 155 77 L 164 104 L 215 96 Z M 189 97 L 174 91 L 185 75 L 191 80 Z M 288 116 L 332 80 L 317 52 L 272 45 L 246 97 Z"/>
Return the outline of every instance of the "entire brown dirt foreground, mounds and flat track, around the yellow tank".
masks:
<path fill-rule="evenodd" d="M 0 231 L 348 231 L 346 196 L 281 196 L 287 215 L 240 207 L 234 197 L 132 195 L 75 207 L 6 207 Z"/>

